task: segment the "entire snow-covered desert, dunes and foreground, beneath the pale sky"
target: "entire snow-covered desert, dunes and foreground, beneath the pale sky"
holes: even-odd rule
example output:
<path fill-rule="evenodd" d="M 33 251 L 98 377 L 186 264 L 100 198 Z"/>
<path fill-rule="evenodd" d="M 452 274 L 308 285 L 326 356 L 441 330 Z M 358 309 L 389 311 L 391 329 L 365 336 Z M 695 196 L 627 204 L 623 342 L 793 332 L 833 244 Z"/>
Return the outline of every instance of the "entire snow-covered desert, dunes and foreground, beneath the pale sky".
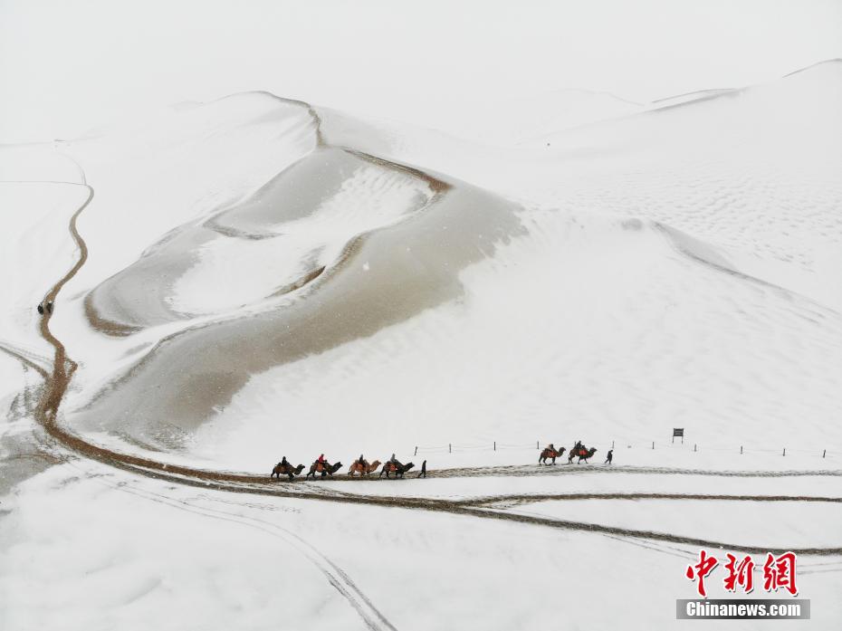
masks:
<path fill-rule="evenodd" d="M 509 111 L 483 146 L 479 119 L 458 139 L 249 92 L 0 151 L 0 627 L 671 628 L 690 538 L 828 549 L 799 558 L 795 626 L 837 628 L 842 63 Z M 264 477 L 395 452 L 407 480 L 198 488 L 48 437 L 34 308 L 87 186 L 59 425 Z M 591 464 L 536 464 L 577 439 Z"/>

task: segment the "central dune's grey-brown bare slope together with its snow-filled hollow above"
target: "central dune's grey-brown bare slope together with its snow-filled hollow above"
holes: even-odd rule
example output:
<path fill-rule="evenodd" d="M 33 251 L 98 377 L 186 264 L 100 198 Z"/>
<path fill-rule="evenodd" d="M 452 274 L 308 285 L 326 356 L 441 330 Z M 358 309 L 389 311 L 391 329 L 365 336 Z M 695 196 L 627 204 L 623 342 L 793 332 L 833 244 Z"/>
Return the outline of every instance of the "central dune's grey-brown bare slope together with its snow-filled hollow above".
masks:
<path fill-rule="evenodd" d="M 254 374 L 457 299 L 464 268 L 523 234 L 517 210 L 457 180 L 317 148 L 242 203 L 177 228 L 88 294 L 89 321 L 107 334 L 189 318 L 191 291 L 205 302 L 205 292 L 221 294 L 212 306 L 225 318 L 162 339 L 74 424 L 179 446 Z M 207 260 L 219 244 L 225 278 Z M 249 300 L 226 302 L 250 275 L 262 284 L 252 283 Z"/>

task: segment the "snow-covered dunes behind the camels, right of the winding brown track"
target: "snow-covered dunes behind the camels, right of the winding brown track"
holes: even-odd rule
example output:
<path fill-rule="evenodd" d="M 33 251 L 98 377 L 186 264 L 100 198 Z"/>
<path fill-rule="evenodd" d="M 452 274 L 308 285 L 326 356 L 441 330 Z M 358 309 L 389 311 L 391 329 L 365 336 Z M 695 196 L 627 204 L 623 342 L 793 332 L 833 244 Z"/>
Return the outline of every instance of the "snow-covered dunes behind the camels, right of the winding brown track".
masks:
<path fill-rule="evenodd" d="M 833 450 L 840 100 L 828 62 L 485 151 L 255 92 L 62 143 L 96 190 L 64 422 L 242 469 L 674 425 Z"/>

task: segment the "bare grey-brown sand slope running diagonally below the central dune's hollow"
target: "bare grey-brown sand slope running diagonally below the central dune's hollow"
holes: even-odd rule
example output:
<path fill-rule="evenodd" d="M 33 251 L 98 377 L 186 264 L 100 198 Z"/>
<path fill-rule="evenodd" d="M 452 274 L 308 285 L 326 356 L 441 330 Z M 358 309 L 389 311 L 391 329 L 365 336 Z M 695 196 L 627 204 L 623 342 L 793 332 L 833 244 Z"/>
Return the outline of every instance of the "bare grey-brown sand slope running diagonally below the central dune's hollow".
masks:
<path fill-rule="evenodd" d="M 192 431 L 255 373 L 457 298 L 459 272 L 521 234 L 521 222 L 512 205 L 471 186 L 436 187 L 446 193 L 424 213 L 349 244 L 301 301 L 164 339 L 71 422 L 144 440 L 165 419 Z"/>

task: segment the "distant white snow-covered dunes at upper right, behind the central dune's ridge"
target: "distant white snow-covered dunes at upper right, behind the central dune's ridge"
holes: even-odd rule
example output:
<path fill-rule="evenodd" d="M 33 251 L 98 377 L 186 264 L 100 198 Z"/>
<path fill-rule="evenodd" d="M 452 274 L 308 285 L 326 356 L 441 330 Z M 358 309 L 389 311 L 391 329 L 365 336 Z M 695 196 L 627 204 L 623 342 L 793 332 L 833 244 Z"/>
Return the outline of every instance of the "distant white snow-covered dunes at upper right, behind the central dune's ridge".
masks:
<path fill-rule="evenodd" d="M 568 129 L 532 151 L 321 112 L 325 138 L 435 168 L 525 206 L 645 217 L 750 275 L 842 311 L 842 61 Z M 548 145 L 549 143 L 549 145 Z M 436 150 L 445 145 L 446 150 Z M 467 159 L 466 159 L 467 157 Z"/>

